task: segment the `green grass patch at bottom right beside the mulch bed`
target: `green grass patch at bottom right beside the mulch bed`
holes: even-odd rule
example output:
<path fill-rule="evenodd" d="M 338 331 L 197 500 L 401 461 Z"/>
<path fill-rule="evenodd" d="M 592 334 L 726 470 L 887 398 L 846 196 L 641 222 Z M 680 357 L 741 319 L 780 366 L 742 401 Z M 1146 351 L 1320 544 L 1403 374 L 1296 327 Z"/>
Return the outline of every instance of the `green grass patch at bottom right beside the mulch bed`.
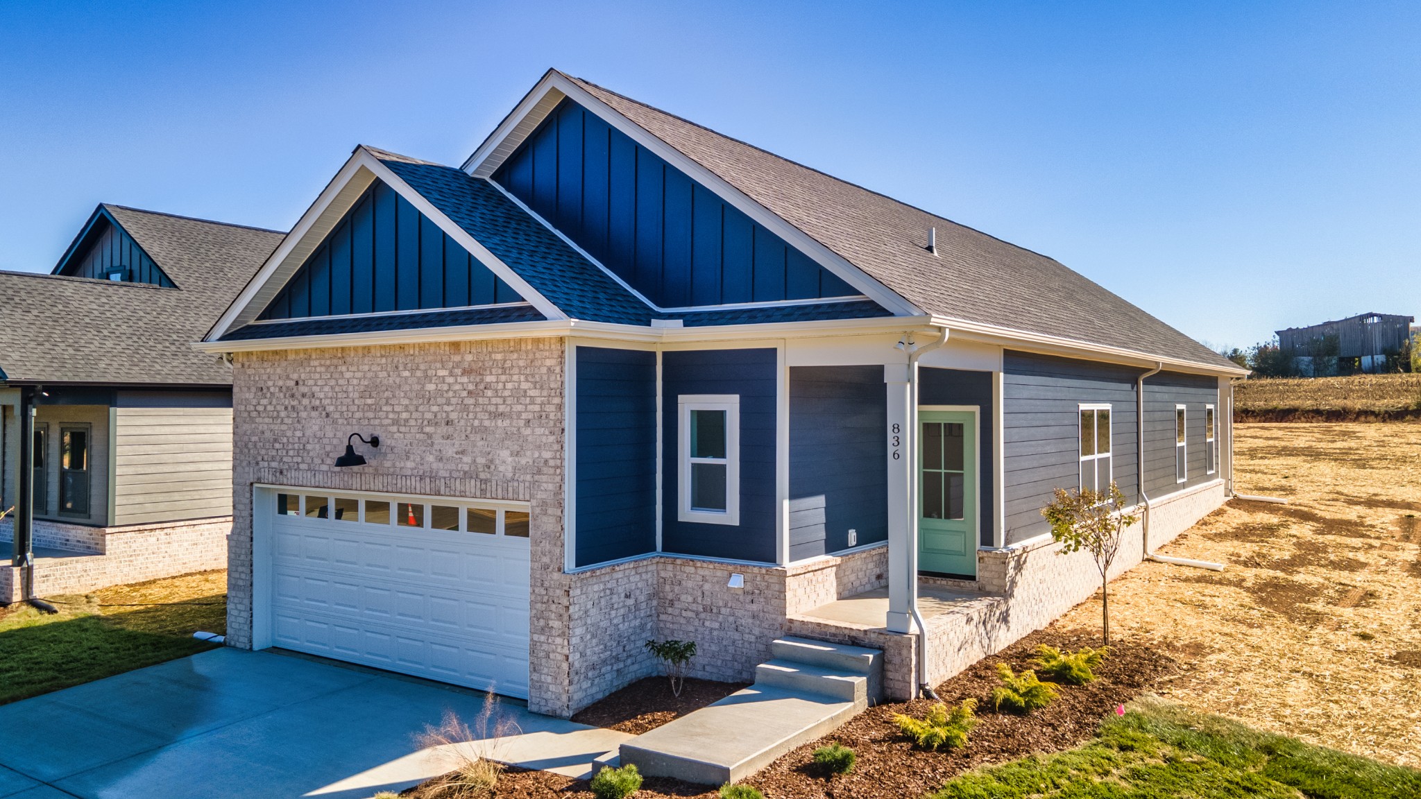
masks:
<path fill-rule="evenodd" d="M 1077 749 L 958 776 L 929 799 L 1415 799 L 1421 772 L 1194 714 L 1130 705 Z"/>

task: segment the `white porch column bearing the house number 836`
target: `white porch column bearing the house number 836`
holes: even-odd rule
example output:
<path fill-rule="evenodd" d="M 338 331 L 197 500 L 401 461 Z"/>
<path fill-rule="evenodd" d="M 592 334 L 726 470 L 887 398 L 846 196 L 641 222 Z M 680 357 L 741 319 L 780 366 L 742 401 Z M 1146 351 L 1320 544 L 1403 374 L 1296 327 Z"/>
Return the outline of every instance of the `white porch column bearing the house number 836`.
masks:
<path fill-rule="evenodd" d="M 917 364 L 888 364 L 888 631 L 912 630 L 912 593 L 918 589 L 918 546 L 912 540 L 914 458 L 911 370 Z"/>

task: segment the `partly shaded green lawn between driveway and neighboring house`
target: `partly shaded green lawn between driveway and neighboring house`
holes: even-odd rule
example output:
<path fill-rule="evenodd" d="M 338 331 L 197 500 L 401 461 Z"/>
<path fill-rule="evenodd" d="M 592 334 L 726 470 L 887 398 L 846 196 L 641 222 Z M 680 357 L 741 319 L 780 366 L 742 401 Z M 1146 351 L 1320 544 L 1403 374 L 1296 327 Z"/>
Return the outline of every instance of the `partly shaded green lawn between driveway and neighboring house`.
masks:
<path fill-rule="evenodd" d="M 226 631 L 226 572 L 47 599 L 58 614 L 0 608 L 0 704 L 210 650 L 192 634 Z"/>

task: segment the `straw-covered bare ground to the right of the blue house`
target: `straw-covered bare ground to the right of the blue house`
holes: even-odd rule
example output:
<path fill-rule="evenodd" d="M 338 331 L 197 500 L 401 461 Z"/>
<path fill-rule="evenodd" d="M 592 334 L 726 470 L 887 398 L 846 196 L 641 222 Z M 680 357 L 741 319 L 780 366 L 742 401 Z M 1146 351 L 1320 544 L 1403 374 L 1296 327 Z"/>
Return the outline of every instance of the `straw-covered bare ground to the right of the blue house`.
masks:
<path fill-rule="evenodd" d="M 1111 584 L 1111 628 L 1189 668 L 1167 698 L 1421 766 L 1421 425 L 1239 425 L 1238 490 Z M 1100 624 L 1098 601 L 1063 627 Z"/>

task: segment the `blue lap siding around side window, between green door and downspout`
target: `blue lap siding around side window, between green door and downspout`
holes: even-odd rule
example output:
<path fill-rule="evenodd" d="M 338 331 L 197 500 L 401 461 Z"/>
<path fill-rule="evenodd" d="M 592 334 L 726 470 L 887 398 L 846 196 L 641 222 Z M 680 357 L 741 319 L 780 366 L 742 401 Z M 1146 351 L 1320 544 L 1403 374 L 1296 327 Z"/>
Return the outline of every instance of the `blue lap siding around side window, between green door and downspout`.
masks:
<path fill-rule="evenodd" d="M 1042 508 L 1057 488 L 1080 488 L 1081 402 L 1110 404 L 1111 471 L 1135 499 L 1135 378 L 1145 370 L 1007 351 L 1002 371 L 1005 543 L 1049 533 Z"/>

